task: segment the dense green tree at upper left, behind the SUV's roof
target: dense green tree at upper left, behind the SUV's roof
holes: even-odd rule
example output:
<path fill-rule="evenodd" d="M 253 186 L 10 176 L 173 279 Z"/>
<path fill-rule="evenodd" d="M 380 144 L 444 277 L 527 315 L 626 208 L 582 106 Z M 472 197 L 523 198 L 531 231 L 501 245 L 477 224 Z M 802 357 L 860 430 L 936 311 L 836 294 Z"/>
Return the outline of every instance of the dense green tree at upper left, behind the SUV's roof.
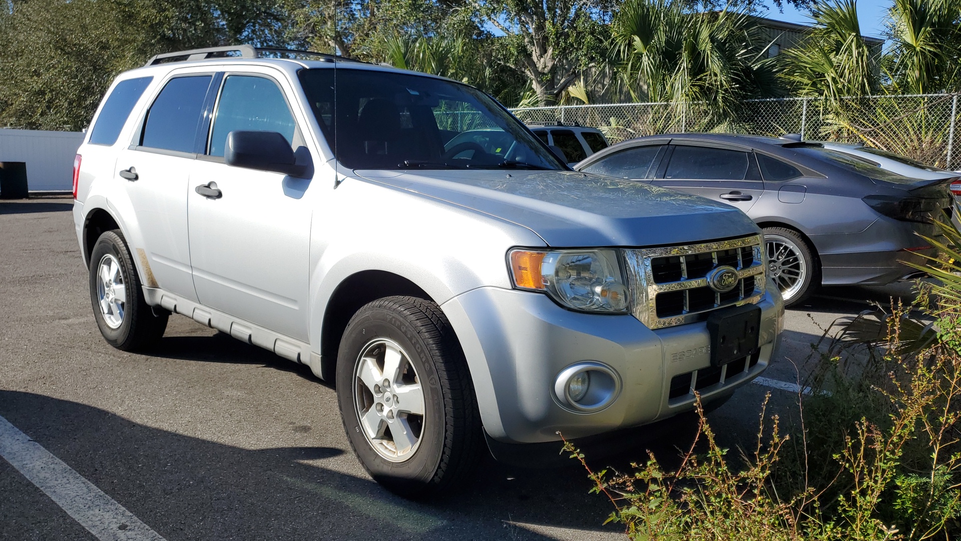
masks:
<path fill-rule="evenodd" d="M 270 43 L 271 0 L 18 0 L 0 18 L 0 125 L 79 130 L 120 71 L 175 50 Z M 226 14 L 225 14 L 226 13 Z"/>

